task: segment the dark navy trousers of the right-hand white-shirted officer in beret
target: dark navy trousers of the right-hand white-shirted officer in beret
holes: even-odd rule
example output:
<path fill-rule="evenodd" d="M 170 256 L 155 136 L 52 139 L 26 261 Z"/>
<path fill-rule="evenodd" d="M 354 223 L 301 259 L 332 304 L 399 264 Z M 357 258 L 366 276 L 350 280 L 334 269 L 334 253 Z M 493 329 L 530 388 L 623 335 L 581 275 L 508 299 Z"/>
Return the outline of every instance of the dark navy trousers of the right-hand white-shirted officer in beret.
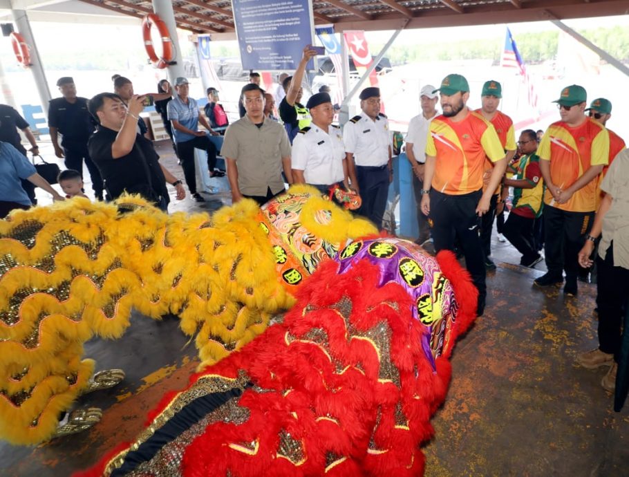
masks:
<path fill-rule="evenodd" d="M 386 209 L 388 178 L 386 164 L 378 167 L 356 166 L 356 179 L 363 201 L 356 213 L 368 218 L 378 229 L 382 229 L 382 219 Z"/>

